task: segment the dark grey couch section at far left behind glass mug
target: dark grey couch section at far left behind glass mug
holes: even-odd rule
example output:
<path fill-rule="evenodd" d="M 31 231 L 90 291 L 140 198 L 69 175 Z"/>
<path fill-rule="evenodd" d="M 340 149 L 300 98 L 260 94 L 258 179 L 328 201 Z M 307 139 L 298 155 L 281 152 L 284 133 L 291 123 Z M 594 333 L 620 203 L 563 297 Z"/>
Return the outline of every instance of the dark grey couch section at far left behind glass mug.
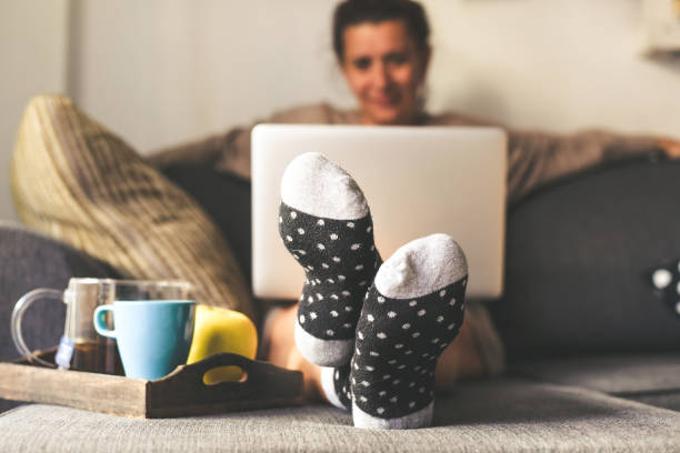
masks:
<path fill-rule="evenodd" d="M 36 233 L 27 228 L 0 222 L 0 361 L 19 358 L 9 332 L 10 316 L 17 301 L 38 288 L 63 290 L 72 276 L 119 279 L 121 275 L 74 248 Z M 63 303 L 37 301 L 23 316 L 23 338 L 31 350 L 48 349 L 63 334 Z M 0 412 L 18 403 L 0 399 Z"/>

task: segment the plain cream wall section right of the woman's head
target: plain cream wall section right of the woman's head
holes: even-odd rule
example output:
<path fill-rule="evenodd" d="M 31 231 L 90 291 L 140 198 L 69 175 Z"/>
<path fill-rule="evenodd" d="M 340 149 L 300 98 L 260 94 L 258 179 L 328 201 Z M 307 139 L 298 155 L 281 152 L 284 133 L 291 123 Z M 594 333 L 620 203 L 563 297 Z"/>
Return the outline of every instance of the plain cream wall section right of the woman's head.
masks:
<path fill-rule="evenodd" d="M 640 0 L 424 3 L 437 9 L 433 108 L 522 128 L 680 137 L 680 59 L 639 56 Z"/>

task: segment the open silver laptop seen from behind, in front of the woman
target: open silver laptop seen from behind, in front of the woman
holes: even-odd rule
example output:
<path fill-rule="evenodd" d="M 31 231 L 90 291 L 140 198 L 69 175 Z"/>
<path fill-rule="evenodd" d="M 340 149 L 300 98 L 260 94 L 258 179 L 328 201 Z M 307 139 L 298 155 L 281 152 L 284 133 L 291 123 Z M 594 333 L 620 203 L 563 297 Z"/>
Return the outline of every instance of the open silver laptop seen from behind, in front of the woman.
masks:
<path fill-rule="evenodd" d="M 502 293 L 507 137 L 481 127 L 259 124 L 252 131 L 252 285 L 298 299 L 304 272 L 279 236 L 281 177 L 316 151 L 351 174 L 368 200 L 387 260 L 407 242 L 451 235 L 468 259 L 468 298 Z"/>

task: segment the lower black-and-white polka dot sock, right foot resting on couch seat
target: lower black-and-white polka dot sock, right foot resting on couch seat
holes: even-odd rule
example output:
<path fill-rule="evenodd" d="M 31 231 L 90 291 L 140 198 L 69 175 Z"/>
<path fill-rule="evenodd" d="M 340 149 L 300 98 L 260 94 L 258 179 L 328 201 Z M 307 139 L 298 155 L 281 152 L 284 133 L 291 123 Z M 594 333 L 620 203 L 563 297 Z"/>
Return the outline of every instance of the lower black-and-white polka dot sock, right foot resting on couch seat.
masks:
<path fill-rule="evenodd" d="M 431 424 L 434 369 L 462 324 L 467 280 L 466 256 L 446 234 L 412 241 L 382 264 L 357 325 L 356 426 Z"/>

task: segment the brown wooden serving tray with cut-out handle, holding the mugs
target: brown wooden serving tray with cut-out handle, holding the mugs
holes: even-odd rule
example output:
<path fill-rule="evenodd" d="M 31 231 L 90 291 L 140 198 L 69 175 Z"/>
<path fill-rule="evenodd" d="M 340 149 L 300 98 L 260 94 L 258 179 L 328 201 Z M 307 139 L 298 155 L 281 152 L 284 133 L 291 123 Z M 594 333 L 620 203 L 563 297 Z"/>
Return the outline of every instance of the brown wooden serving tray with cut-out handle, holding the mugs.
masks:
<path fill-rule="evenodd" d="M 37 354 L 53 361 L 53 351 Z M 203 383 L 206 372 L 227 365 L 240 366 L 246 379 Z M 0 362 L 0 397 L 163 419 L 297 405 L 302 401 L 302 373 L 228 353 L 180 365 L 154 381 Z"/>

